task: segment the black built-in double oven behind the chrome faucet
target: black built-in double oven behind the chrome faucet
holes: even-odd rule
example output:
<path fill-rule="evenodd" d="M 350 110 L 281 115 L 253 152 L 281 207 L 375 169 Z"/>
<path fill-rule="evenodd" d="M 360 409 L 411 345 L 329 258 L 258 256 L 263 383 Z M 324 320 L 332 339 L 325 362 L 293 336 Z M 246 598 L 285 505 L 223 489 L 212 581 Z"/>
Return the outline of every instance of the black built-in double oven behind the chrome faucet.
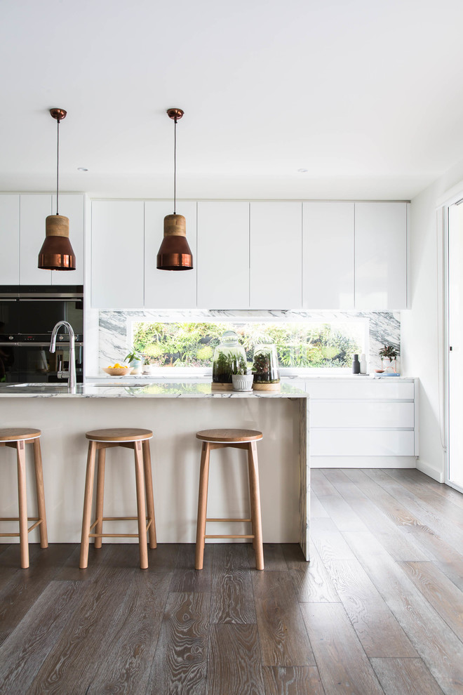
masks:
<path fill-rule="evenodd" d="M 76 336 L 76 375 L 83 381 L 83 287 L 0 286 L 0 382 L 57 382 L 69 368 L 69 335 L 61 328 L 51 353 L 53 326 L 67 321 Z"/>

